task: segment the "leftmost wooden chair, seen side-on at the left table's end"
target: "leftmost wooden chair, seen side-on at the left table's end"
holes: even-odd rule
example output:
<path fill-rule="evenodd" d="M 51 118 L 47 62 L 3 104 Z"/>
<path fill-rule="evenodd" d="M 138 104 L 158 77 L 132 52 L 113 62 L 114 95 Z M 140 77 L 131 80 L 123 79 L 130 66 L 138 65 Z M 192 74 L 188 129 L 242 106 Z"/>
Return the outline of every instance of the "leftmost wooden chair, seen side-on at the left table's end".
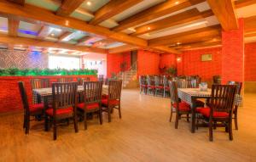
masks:
<path fill-rule="evenodd" d="M 27 95 L 26 95 L 26 89 L 24 87 L 24 83 L 22 81 L 18 82 L 18 86 L 20 89 L 20 97 L 23 103 L 24 108 L 24 120 L 23 120 L 23 128 L 25 128 L 25 133 L 29 133 L 29 127 L 30 127 L 30 117 L 36 116 L 36 115 L 43 115 L 44 113 L 44 104 L 33 104 L 29 105 L 27 101 Z"/>

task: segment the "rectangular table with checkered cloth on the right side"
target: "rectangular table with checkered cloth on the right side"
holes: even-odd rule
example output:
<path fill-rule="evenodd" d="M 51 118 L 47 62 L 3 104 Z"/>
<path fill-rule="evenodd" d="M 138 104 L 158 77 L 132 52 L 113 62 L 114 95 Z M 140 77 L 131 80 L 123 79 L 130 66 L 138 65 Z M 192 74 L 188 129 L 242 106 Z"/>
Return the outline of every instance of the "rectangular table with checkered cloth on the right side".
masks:
<path fill-rule="evenodd" d="M 178 98 L 183 100 L 186 103 L 189 103 L 191 106 L 191 132 L 195 132 L 195 100 L 198 98 L 211 98 L 212 90 L 207 89 L 206 92 L 200 91 L 199 88 L 177 88 Z M 241 106 L 241 95 L 236 94 L 234 105 Z"/>

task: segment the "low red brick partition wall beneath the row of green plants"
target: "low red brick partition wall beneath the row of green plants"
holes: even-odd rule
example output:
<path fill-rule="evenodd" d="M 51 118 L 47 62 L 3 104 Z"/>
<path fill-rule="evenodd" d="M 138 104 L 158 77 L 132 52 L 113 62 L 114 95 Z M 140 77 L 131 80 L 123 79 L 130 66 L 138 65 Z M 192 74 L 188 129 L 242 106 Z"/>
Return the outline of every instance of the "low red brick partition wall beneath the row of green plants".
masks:
<path fill-rule="evenodd" d="M 50 82 L 57 81 L 57 78 L 73 77 L 90 77 L 91 81 L 96 81 L 94 75 L 67 75 L 67 76 L 0 76 L 0 113 L 12 112 L 23 109 L 21 103 L 18 81 L 24 81 L 29 103 L 32 103 L 32 87 L 30 80 L 32 78 L 49 78 Z"/>

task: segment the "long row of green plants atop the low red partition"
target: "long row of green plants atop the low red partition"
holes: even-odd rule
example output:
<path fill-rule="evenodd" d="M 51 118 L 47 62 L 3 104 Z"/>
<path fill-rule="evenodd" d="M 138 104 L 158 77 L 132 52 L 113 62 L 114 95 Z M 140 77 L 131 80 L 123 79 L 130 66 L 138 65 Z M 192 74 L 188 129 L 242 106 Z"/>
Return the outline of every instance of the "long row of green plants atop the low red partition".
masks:
<path fill-rule="evenodd" d="M 0 69 L 0 76 L 9 75 L 97 75 L 97 70 L 65 70 L 65 69 L 24 69 L 18 68 Z"/>

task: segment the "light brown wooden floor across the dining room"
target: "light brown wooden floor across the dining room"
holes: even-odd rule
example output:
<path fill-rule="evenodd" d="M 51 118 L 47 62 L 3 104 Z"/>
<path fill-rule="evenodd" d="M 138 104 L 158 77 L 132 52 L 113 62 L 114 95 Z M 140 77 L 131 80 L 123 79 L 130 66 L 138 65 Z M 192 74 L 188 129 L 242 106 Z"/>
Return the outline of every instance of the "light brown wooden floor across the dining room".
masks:
<path fill-rule="evenodd" d="M 87 131 L 83 123 L 79 133 L 72 124 L 61 126 L 57 141 L 52 140 L 52 131 L 44 131 L 43 123 L 32 122 L 26 136 L 22 115 L 1 116 L 0 161 L 256 161 L 256 94 L 246 94 L 232 142 L 219 128 L 209 142 L 207 128 L 192 134 L 185 120 L 175 130 L 174 122 L 168 122 L 169 105 L 168 98 L 124 90 L 121 120 L 116 110 L 111 123 L 104 115 L 100 126 L 95 117 Z"/>

